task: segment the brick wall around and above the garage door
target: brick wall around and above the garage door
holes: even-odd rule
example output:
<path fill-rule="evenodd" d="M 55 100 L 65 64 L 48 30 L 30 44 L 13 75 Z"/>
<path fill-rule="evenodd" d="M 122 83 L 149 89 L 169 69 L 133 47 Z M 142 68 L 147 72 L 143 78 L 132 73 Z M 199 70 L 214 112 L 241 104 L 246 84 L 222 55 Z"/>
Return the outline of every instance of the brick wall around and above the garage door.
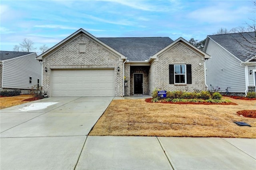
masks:
<path fill-rule="evenodd" d="M 86 45 L 85 52 L 79 52 L 79 43 Z M 78 38 L 67 43 L 58 51 L 46 57 L 43 67 L 48 71 L 43 72 L 43 88 L 51 96 L 50 75 L 52 69 L 114 69 L 115 96 L 123 95 L 123 62 L 120 57 L 114 55 L 98 43 L 81 34 Z M 120 67 L 120 71 L 117 71 Z"/>

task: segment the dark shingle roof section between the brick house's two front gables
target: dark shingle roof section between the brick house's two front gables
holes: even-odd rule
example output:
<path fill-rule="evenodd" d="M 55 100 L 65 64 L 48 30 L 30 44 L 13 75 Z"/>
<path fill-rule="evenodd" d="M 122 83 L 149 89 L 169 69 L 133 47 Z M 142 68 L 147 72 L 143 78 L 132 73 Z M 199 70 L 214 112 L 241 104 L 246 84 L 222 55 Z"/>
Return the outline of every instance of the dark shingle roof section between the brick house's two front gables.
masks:
<path fill-rule="evenodd" d="M 98 38 L 129 61 L 145 61 L 173 42 L 169 37 Z"/>

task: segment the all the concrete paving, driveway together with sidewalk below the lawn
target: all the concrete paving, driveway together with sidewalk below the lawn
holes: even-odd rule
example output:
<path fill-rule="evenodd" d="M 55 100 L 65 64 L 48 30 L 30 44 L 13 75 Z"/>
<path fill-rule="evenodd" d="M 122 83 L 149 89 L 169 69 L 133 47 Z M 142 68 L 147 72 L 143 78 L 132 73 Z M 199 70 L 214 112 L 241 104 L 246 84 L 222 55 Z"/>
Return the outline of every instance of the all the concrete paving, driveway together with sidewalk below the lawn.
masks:
<path fill-rule="evenodd" d="M 256 169 L 256 139 L 87 136 L 113 97 L 0 110 L 0 169 Z"/>

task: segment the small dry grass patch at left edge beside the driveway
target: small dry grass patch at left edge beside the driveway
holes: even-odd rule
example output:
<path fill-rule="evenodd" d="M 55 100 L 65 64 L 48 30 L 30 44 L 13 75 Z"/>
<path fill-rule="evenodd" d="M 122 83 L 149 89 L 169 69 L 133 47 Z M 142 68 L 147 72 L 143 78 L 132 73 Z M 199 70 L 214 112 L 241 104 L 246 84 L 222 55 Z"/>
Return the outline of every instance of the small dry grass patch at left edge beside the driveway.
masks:
<path fill-rule="evenodd" d="M 23 101 L 25 99 L 32 98 L 32 95 L 19 95 L 12 97 L 0 97 L 0 109 L 4 109 L 11 106 L 20 105 L 22 103 L 27 103 L 29 101 Z"/>

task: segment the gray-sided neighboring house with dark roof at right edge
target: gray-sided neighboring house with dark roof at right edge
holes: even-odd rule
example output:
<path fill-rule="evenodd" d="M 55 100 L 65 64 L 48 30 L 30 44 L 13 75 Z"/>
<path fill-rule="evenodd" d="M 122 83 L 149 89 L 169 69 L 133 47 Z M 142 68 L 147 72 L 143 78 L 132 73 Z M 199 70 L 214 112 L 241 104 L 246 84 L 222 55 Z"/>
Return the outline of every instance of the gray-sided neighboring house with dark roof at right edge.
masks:
<path fill-rule="evenodd" d="M 249 43 L 250 42 L 250 43 Z M 221 92 L 255 91 L 256 32 L 207 36 L 204 51 L 208 88 L 220 87 Z M 210 86 L 211 85 L 211 86 Z"/>

